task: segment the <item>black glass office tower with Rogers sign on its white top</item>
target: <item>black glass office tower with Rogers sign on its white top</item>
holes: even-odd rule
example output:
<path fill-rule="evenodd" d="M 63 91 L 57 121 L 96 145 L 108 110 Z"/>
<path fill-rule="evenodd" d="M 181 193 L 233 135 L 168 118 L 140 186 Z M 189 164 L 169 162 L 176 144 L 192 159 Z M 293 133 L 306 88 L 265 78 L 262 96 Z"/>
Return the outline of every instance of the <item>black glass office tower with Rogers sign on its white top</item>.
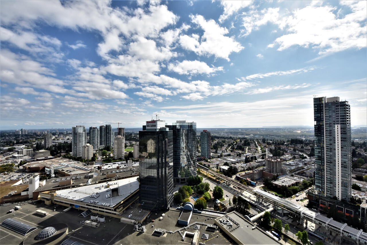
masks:
<path fill-rule="evenodd" d="M 173 201 L 172 130 L 150 120 L 139 131 L 139 202 L 144 209 L 168 209 Z"/>

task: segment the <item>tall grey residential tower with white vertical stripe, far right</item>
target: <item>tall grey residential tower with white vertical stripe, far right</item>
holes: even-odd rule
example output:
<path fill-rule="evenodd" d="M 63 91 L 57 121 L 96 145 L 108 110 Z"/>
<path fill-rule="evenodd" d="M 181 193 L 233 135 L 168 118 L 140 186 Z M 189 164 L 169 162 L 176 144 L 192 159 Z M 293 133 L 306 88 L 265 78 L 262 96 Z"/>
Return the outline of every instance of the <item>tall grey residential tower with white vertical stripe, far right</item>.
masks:
<path fill-rule="evenodd" d="M 313 98 L 315 187 L 319 195 L 349 201 L 352 196 L 350 105 L 339 97 Z"/>

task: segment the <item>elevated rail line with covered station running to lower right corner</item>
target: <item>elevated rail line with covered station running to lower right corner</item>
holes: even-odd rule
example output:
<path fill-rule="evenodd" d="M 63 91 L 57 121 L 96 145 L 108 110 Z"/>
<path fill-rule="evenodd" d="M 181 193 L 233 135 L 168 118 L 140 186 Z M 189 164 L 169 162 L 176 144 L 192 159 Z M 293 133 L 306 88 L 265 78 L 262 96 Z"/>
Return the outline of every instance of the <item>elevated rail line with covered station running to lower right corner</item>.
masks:
<path fill-rule="evenodd" d="M 223 174 L 214 172 L 209 168 L 204 167 L 200 164 L 198 165 L 200 166 L 201 169 L 205 170 L 207 173 L 210 173 L 211 175 L 217 178 L 223 179 L 224 181 L 232 184 L 237 189 L 250 192 L 257 198 L 257 201 L 262 200 L 268 202 L 269 205 L 273 205 L 275 209 L 279 208 L 282 210 L 287 210 L 288 212 L 292 213 L 294 217 L 296 217 L 296 219 L 299 219 L 300 221 L 299 223 L 301 223 L 302 225 L 304 223 L 304 220 L 308 220 L 312 223 L 315 223 L 319 226 L 326 228 L 327 231 L 333 231 L 334 233 L 339 234 L 340 235 L 339 244 L 341 244 L 342 237 L 344 237 L 349 241 L 356 242 L 356 244 L 367 245 L 367 233 L 363 232 L 363 230 L 357 230 L 353 227 L 348 226 L 346 223 L 343 224 L 333 220 L 333 218 L 327 218 L 325 216 L 322 216 L 320 213 L 316 213 L 309 210 L 308 208 L 298 206 L 295 203 L 292 203 L 286 199 L 271 195 L 266 191 L 254 190 L 251 187 L 243 185 Z"/>

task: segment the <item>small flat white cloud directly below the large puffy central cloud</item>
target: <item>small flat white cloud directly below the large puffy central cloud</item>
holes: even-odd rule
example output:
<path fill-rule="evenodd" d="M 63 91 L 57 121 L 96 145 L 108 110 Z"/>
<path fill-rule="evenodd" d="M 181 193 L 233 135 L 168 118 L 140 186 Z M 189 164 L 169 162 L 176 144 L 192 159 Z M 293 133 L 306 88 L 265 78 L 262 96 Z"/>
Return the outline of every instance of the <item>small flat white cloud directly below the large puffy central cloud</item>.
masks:
<path fill-rule="evenodd" d="M 175 64 L 168 65 L 169 71 L 174 71 L 180 75 L 197 75 L 197 74 L 211 74 L 215 73 L 216 71 L 223 71 L 223 66 L 215 67 L 215 66 L 208 66 L 203 61 L 188 61 L 184 60 L 182 62 L 176 62 Z"/>

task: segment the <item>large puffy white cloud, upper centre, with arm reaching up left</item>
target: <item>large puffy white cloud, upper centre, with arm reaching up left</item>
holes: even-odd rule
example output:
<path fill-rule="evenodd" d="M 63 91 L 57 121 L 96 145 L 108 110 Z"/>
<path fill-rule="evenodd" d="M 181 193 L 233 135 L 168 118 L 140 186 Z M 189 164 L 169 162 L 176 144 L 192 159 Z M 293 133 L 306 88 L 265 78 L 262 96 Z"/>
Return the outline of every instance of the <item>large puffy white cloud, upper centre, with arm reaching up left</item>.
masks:
<path fill-rule="evenodd" d="M 229 55 L 240 52 L 243 47 L 233 37 L 224 36 L 228 30 L 219 26 L 214 20 L 206 21 L 201 15 L 190 15 L 194 24 L 204 30 L 199 42 L 195 36 L 180 36 L 179 43 L 187 50 L 194 51 L 199 55 L 214 55 L 229 61 Z"/>

